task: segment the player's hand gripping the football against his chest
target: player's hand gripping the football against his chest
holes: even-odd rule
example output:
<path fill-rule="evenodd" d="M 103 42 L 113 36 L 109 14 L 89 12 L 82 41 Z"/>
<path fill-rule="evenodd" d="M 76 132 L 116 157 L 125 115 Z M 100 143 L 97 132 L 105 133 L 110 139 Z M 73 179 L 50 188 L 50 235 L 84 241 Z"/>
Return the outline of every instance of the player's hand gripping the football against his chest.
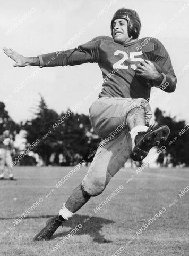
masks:
<path fill-rule="evenodd" d="M 136 65 L 136 75 L 148 80 L 156 80 L 159 77 L 159 72 L 149 60 L 141 61 Z"/>

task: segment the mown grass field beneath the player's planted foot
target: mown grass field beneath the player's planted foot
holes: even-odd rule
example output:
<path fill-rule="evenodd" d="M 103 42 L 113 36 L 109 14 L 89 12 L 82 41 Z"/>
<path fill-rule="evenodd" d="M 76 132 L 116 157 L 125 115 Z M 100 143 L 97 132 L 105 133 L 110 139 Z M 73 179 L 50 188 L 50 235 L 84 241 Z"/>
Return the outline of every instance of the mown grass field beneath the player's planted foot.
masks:
<path fill-rule="evenodd" d="M 33 242 L 33 236 L 44 227 L 49 217 L 57 214 L 87 170 L 82 167 L 64 185 L 56 188 L 57 181 L 71 169 L 15 167 L 17 181 L 0 181 L 1 256 L 189 255 L 189 191 L 185 189 L 186 194 L 179 196 L 189 185 L 188 169 L 144 169 L 138 174 L 135 169 L 122 169 L 104 193 L 91 198 L 64 223 L 63 228 L 58 228 L 50 241 Z M 126 183 L 131 177 L 132 180 Z M 113 195 L 121 185 L 123 189 Z M 52 189 L 51 195 L 47 196 Z M 39 198 L 43 201 L 31 209 Z M 107 198 L 111 198 L 110 201 Z M 102 201 L 106 201 L 106 205 L 95 213 L 94 209 Z M 15 224 L 29 207 L 31 212 L 27 217 L 20 218 Z M 164 212 L 157 214 L 162 208 Z M 150 225 L 143 226 L 147 222 Z M 78 224 L 82 228 L 66 240 L 65 236 Z M 137 234 L 142 226 L 142 233 Z M 65 239 L 63 245 L 59 243 L 62 238 Z M 60 246 L 55 250 L 57 243 Z"/>

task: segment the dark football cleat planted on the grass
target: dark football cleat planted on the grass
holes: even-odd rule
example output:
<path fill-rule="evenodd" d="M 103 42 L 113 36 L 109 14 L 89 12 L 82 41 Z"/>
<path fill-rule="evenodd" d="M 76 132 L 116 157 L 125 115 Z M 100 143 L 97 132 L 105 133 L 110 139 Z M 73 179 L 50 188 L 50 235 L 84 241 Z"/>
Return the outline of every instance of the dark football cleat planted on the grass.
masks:
<path fill-rule="evenodd" d="M 45 228 L 43 228 L 34 238 L 33 241 L 43 241 L 49 240 L 51 236 L 55 233 L 56 229 L 63 224 L 65 221 L 63 218 L 57 215 L 55 217 L 50 218 L 46 222 Z"/>

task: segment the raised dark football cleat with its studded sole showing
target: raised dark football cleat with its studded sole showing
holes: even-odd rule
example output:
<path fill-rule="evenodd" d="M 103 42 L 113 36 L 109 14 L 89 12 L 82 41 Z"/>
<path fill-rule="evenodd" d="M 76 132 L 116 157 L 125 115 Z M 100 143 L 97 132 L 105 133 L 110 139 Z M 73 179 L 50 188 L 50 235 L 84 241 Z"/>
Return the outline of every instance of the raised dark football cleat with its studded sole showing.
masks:
<path fill-rule="evenodd" d="M 152 147 L 158 146 L 161 142 L 167 140 L 170 129 L 167 125 L 161 125 L 146 132 L 139 132 L 135 137 L 135 146 L 131 151 L 130 157 L 134 161 L 142 161 L 149 153 Z"/>

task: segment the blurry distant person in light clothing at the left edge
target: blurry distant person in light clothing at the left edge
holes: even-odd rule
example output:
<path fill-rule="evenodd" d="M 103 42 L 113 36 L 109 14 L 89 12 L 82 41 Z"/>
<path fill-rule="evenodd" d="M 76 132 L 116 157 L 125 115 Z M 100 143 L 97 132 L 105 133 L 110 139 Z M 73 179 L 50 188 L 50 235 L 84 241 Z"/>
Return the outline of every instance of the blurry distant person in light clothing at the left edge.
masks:
<path fill-rule="evenodd" d="M 9 175 L 10 180 L 14 180 L 12 173 L 12 156 L 15 152 L 13 146 L 12 135 L 8 130 L 3 132 L 3 135 L 0 136 L 0 179 L 4 179 L 4 174 Z M 5 169 L 5 165 L 7 168 Z"/>

